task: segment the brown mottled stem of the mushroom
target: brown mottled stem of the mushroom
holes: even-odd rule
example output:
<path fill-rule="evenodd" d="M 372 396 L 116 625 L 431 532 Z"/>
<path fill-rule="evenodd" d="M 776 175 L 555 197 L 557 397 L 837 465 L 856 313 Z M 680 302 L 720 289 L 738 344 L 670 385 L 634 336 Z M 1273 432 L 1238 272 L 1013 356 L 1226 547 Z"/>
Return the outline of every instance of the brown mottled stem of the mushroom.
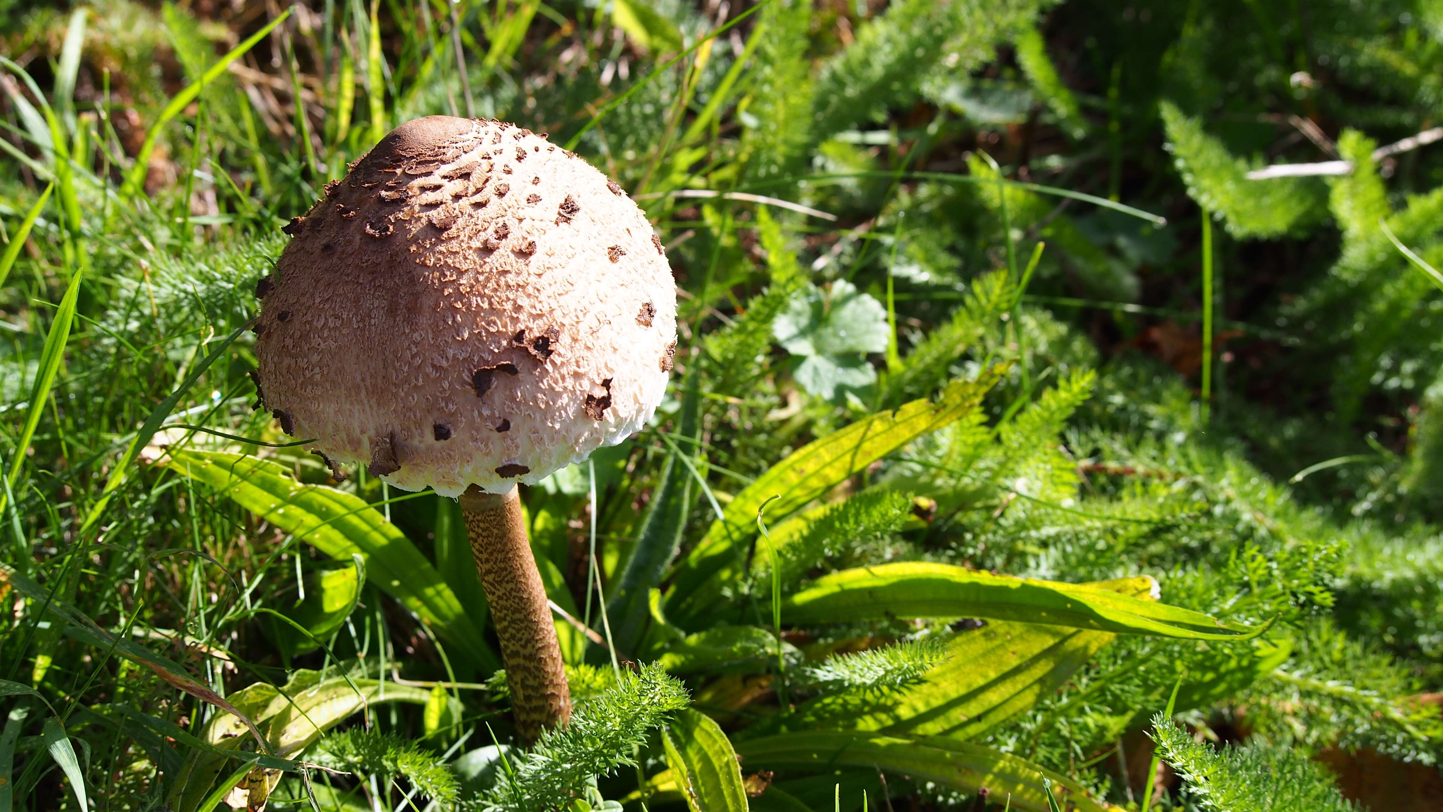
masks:
<path fill-rule="evenodd" d="M 472 485 L 460 494 L 460 511 L 501 639 L 517 730 L 531 743 L 544 730 L 571 718 L 571 689 L 566 683 L 551 605 L 527 539 L 521 497 L 515 487 L 489 494 Z"/>

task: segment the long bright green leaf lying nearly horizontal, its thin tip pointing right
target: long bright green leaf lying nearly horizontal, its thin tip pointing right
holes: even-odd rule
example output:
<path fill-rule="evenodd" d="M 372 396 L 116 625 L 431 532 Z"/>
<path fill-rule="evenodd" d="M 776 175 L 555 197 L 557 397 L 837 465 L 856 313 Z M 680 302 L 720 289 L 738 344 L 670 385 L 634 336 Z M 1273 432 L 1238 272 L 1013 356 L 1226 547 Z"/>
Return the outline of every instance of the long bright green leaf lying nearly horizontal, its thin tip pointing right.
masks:
<path fill-rule="evenodd" d="M 782 601 L 782 620 L 794 626 L 915 617 L 986 617 L 1190 640 L 1247 640 L 1264 629 L 1082 584 L 928 562 L 844 569 Z"/>

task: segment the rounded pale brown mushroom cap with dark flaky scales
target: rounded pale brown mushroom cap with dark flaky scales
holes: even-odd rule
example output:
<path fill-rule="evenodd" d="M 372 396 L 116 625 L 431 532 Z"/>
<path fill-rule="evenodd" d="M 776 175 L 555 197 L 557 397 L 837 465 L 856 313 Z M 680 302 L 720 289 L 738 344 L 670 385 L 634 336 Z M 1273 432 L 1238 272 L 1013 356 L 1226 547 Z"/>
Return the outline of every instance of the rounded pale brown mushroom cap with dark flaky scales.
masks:
<path fill-rule="evenodd" d="M 286 231 L 257 384 L 293 436 L 403 490 L 505 493 L 651 419 L 677 345 L 645 214 L 504 121 L 401 124 Z"/>

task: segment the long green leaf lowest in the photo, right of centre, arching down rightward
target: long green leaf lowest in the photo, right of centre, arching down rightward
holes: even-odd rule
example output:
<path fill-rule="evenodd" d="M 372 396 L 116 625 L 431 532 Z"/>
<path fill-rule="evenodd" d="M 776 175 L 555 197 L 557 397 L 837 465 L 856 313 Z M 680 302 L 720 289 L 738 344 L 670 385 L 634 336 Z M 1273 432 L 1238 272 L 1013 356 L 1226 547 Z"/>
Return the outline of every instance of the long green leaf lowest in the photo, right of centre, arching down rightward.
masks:
<path fill-rule="evenodd" d="M 1042 786 L 1048 779 L 1053 792 L 1071 802 L 1076 812 L 1108 811 L 1076 783 L 1038 764 L 991 747 L 944 737 L 801 731 L 742 741 L 736 751 L 747 769 L 867 767 L 964 792 L 975 793 L 987 787 L 993 798 L 1010 796 L 1012 808 L 1023 812 L 1048 812 Z"/>

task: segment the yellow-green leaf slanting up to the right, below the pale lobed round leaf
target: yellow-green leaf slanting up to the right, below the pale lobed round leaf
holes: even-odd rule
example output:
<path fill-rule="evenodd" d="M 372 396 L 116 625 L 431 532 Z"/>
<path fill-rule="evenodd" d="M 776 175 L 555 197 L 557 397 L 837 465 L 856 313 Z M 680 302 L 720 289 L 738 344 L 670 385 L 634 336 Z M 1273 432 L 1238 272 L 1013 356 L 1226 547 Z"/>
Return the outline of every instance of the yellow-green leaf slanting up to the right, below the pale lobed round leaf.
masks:
<path fill-rule="evenodd" d="M 837 483 L 877 459 L 978 407 L 997 381 L 993 368 L 975 381 L 954 381 L 937 402 L 913 400 L 835 431 L 797 449 L 736 494 L 722 519 L 677 568 L 667 614 L 687 626 L 717 598 L 717 584 L 742 574 L 747 543 L 756 535 L 756 511 L 773 496 L 768 522 L 778 522 L 821 497 Z M 707 584 L 711 581 L 713 584 Z"/>

